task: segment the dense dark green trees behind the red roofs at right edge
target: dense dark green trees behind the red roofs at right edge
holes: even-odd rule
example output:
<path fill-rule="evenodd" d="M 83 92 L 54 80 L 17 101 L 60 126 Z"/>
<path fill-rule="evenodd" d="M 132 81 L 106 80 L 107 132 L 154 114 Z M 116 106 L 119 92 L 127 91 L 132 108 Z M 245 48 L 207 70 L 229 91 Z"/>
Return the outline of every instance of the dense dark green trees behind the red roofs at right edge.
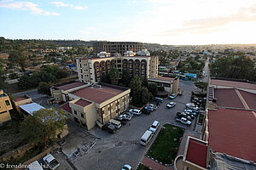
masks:
<path fill-rule="evenodd" d="M 212 76 L 245 79 L 256 82 L 256 68 L 251 59 L 223 57 L 210 65 Z"/>

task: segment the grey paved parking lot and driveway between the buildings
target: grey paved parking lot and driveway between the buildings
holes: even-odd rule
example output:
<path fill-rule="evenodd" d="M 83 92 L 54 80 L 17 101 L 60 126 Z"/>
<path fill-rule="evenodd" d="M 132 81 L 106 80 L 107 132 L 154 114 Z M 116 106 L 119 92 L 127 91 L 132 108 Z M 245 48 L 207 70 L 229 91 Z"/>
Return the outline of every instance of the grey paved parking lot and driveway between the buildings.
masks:
<path fill-rule="evenodd" d="M 90 130 L 100 139 L 92 140 L 95 142 L 93 147 L 80 156 L 73 157 L 73 165 L 77 169 L 120 169 L 124 164 L 130 164 L 131 167 L 137 167 L 139 161 L 143 159 L 148 146 L 139 144 L 140 138 L 148 127 L 157 120 L 160 126 L 166 122 L 172 122 L 179 126 L 186 127 L 180 122 L 177 122 L 177 111 L 183 111 L 185 104 L 189 103 L 192 91 L 199 91 L 195 88 L 193 82 L 180 81 L 180 88 L 183 90 L 182 96 L 177 96 L 176 99 L 164 99 L 164 102 L 158 105 L 158 109 L 150 115 L 134 116 L 130 123 L 122 125 L 116 133 L 110 134 L 103 131 L 99 127 Z M 177 103 L 172 109 L 167 109 L 166 105 L 174 101 Z M 154 102 L 153 102 L 154 103 Z M 195 120 L 192 121 L 191 126 L 187 127 L 188 131 L 193 131 L 195 127 Z M 187 131 L 186 130 L 186 131 Z M 156 135 L 154 135 L 156 136 Z M 84 137 L 87 138 L 87 137 Z M 90 137 L 91 138 L 91 137 Z M 72 145 L 74 149 L 76 144 L 64 144 L 62 147 L 70 148 Z M 72 150 L 72 149 L 70 149 Z"/>

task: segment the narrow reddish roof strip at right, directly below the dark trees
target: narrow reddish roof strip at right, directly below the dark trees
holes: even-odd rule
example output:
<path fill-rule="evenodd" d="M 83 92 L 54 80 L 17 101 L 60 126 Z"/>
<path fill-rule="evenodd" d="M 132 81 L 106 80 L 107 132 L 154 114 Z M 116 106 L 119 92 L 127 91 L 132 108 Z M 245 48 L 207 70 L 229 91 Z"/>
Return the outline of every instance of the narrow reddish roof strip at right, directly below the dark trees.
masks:
<path fill-rule="evenodd" d="M 235 81 L 227 81 L 227 80 L 218 80 L 218 79 L 211 79 L 210 84 L 216 86 L 225 86 L 230 88 L 247 88 L 256 90 L 256 84 L 249 83 L 249 82 L 235 82 Z"/>

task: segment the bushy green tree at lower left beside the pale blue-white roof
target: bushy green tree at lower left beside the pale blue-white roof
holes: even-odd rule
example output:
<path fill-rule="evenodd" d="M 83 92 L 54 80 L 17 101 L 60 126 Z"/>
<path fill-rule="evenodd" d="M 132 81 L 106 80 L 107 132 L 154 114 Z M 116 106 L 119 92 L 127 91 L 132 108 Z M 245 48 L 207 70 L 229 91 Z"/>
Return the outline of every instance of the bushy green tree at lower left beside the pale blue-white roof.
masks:
<path fill-rule="evenodd" d="M 33 116 L 27 116 L 20 123 L 20 132 L 30 143 L 44 141 L 44 147 L 49 144 L 49 139 L 55 141 L 56 132 L 66 125 L 65 113 L 61 110 L 41 109 L 34 111 Z"/>

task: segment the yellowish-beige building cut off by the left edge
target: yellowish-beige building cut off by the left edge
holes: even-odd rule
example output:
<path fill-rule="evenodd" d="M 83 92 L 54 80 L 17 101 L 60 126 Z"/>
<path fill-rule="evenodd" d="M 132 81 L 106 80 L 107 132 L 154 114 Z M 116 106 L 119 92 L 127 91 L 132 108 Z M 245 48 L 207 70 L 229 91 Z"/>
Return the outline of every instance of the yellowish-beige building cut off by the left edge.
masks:
<path fill-rule="evenodd" d="M 12 118 L 9 114 L 9 110 L 12 110 L 12 104 L 9 100 L 9 96 L 3 93 L 3 90 L 0 89 L 0 125 L 3 122 L 8 122 Z"/>

